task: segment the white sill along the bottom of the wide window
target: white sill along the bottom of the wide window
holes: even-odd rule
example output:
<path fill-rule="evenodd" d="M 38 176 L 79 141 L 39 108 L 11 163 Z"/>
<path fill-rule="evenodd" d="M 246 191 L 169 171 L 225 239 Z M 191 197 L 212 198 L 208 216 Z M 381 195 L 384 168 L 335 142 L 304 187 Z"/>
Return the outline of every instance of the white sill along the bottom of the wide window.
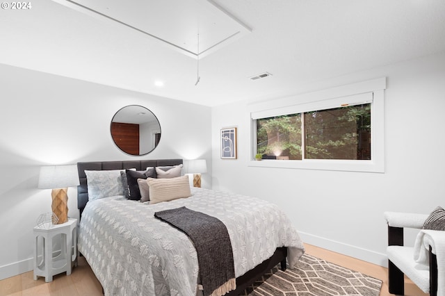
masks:
<path fill-rule="evenodd" d="M 261 161 L 250 161 L 249 167 L 276 167 L 284 169 L 299 170 L 332 170 L 346 172 L 375 172 L 384 173 L 385 165 L 375 161 L 344 161 L 344 160 L 305 160 L 286 161 L 263 159 Z"/>

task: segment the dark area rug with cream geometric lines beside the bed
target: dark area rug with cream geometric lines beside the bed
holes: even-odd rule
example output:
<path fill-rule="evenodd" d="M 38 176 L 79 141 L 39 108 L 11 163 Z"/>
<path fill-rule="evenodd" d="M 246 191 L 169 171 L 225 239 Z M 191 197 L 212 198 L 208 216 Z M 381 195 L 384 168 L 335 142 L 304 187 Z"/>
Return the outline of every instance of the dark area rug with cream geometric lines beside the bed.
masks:
<path fill-rule="evenodd" d="M 245 290 L 250 296 L 378 296 L 382 281 L 360 272 L 342 268 L 310 255 L 303 255 L 295 268 L 286 272 L 275 266 Z"/>

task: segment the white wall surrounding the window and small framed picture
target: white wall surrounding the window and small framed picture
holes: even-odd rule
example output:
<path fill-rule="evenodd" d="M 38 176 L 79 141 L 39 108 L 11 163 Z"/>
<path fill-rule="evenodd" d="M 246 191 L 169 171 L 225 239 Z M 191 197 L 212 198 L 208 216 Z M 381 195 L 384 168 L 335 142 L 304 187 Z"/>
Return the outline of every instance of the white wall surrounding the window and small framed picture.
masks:
<path fill-rule="evenodd" d="M 245 101 L 212 108 L 213 189 L 274 202 L 305 242 L 386 265 L 383 212 L 430 213 L 445 206 L 445 53 L 304 85 L 299 93 L 382 76 L 387 76 L 384 174 L 248 167 Z M 228 126 L 238 127 L 237 160 L 220 159 L 219 133 Z M 410 232 L 407 240 L 413 238 Z"/>

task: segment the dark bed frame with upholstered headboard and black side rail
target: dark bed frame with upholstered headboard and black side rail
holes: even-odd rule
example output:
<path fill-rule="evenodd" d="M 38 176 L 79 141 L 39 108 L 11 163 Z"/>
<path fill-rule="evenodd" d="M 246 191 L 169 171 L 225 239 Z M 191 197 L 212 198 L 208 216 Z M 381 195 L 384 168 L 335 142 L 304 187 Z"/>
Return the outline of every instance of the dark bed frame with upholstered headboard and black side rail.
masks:
<path fill-rule="evenodd" d="M 158 167 L 168 165 L 181 165 L 182 159 L 159 159 L 159 160 L 140 160 L 140 161 L 93 161 L 77 163 L 80 185 L 77 186 L 77 208 L 79 208 L 80 218 L 83 208 L 88 202 L 88 186 L 85 170 L 124 170 L 136 168 L 136 170 L 145 170 L 147 167 Z M 260 279 L 266 272 L 270 271 L 275 265 L 281 263 L 281 269 L 286 270 L 287 248 L 278 247 L 275 253 L 260 263 L 252 270 L 246 272 L 241 277 L 236 278 L 236 290 L 232 290 L 225 296 L 241 295 L 245 288 L 252 285 L 254 281 Z"/>

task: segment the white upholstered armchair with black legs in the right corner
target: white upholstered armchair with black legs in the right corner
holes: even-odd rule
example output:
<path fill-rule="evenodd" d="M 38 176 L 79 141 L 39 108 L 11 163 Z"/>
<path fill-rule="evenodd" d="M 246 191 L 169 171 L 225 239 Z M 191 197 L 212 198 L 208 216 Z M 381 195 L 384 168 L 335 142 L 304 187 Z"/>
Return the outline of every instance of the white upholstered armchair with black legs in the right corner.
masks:
<path fill-rule="evenodd" d="M 445 231 L 423 230 L 427 217 L 423 214 L 385 212 L 391 294 L 405 295 L 405 274 L 423 292 L 445 296 Z M 403 245 L 404 228 L 421 229 L 412 247 Z"/>

